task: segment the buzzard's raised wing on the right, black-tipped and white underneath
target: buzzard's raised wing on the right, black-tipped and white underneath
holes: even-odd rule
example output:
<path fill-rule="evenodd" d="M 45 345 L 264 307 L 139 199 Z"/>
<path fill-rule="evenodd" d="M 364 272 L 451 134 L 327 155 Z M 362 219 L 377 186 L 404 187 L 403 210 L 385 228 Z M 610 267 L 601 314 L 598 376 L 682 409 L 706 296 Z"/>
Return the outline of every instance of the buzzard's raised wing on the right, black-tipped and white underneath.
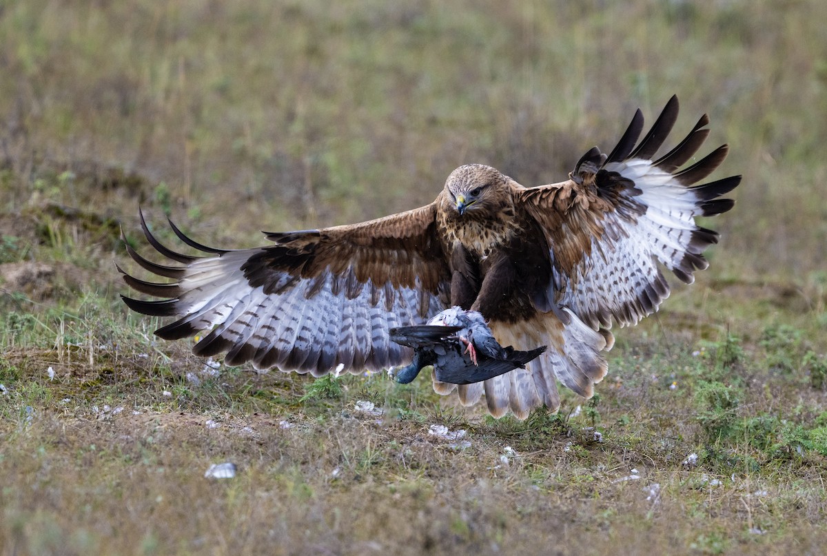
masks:
<path fill-rule="evenodd" d="M 643 114 L 609 156 L 592 148 L 578 161 L 570 180 L 519 192 L 522 206 L 543 227 L 552 256 L 552 283 L 535 304 L 543 311 L 564 306 L 592 328 L 636 324 L 657 310 L 669 285 L 657 261 L 683 282 L 709 263 L 701 254 L 718 233 L 701 228 L 697 216 L 732 208 L 719 199 L 741 176 L 696 185 L 717 168 L 728 147 L 683 170 L 709 130 L 704 115 L 672 151 L 654 159 L 672 130 L 678 102 L 672 97 L 643 137 Z"/>

